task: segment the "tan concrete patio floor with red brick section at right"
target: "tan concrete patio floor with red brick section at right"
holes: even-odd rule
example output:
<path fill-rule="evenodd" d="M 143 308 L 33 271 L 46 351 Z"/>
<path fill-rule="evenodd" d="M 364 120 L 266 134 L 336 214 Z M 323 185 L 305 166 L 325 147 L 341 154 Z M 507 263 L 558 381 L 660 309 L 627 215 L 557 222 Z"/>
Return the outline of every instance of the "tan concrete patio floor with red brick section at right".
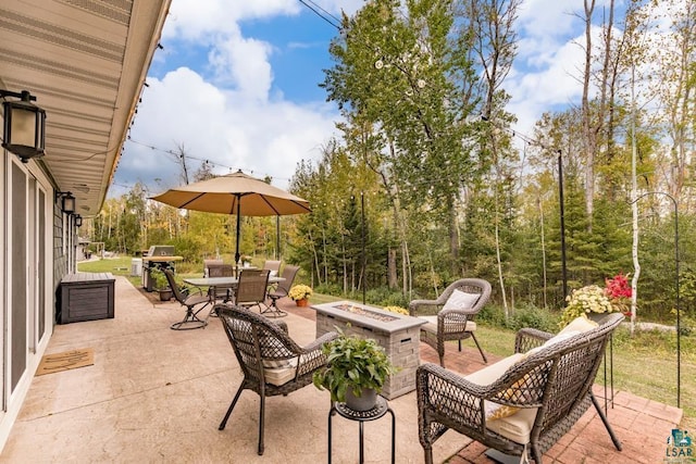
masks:
<path fill-rule="evenodd" d="M 327 392 L 309 386 L 268 399 L 265 453 L 259 456 L 256 393 L 245 391 L 226 429 L 217 430 L 241 378 L 220 321 L 210 318 L 206 329 L 171 330 L 184 315 L 178 303 L 153 303 L 123 277 L 116 277 L 115 292 L 113 319 L 55 327 L 48 353 L 92 348 L 95 364 L 35 377 L 0 462 L 326 462 Z M 313 310 L 281 303 L 290 312 L 284 318 L 290 336 L 300 344 L 313 340 Z M 469 373 L 483 366 L 475 349 L 451 348 L 448 368 Z M 436 362 L 437 356 L 421 343 L 421 359 Z M 423 462 L 415 393 L 389 405 L 397 419 L 396 462 Z M 682 411 L 618 392 L 608 416 L 622 452 L 591 409 L 545 461 L 662 462 Z M 364 430 L 365 461 L 389 462 L 388 415 L 365 423 Z M 358 462 L 358 424 L 336 416 L 333 432 L 333 462 Z M 434 451 L 438 463 L 492 462 L 481 444 L 453 431 Z"/>

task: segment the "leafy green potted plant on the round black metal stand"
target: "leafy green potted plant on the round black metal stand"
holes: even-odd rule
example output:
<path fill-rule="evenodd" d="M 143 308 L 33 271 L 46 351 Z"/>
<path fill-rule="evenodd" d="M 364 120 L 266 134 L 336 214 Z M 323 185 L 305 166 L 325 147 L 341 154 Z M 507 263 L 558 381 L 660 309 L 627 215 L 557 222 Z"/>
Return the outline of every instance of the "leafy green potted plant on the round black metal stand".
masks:
<path fill-rule="evenodd" d="M 374 407 L 384 381 L 396 371 L 384 348 L 371 338 L 338 330 L 338 337 L 324 343 L 322 351 L 326 366 L 314 373 L 314 386 L 328 390 L 332 401 L 345 402 L 353 411 Z"/>

